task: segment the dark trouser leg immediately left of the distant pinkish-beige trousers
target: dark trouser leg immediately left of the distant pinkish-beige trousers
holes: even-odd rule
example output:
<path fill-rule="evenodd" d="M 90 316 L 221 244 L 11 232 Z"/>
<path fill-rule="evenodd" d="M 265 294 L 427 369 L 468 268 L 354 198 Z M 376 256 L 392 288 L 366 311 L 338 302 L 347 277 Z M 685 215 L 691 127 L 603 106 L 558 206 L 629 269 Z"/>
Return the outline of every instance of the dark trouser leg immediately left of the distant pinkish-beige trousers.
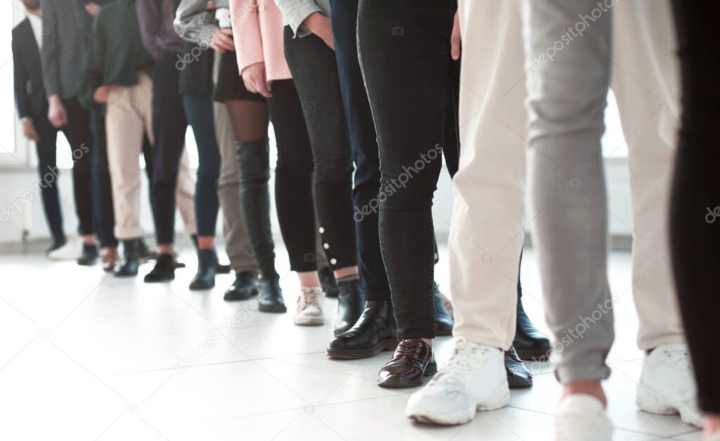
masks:
<path fill-rule="evenodd" d="M 107 137 L 105 136 L 105 114 L 100 109 L 90 111 L 90 125 L 93 137 L 92 171 L 95 183 L 93 204 L 95 227 L 101 247 L 117 247 L 114 234 L 115 215 L 112 207 L 112 185 L 107 165 Z"/>

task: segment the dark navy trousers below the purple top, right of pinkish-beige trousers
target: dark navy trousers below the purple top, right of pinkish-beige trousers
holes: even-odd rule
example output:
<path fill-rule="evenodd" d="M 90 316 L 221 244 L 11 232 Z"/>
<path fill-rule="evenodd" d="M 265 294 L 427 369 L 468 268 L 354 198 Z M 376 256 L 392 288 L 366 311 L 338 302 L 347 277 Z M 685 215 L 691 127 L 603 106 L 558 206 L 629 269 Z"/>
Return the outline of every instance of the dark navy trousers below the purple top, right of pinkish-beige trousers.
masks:
<path fill-rule="evenodd" d="M 174 242 L 175 189 L 187 129 L 176 62 L 177 53 L 163 51 L 153 69 L 155 164 L 151 194 L 158 244 Z"/>

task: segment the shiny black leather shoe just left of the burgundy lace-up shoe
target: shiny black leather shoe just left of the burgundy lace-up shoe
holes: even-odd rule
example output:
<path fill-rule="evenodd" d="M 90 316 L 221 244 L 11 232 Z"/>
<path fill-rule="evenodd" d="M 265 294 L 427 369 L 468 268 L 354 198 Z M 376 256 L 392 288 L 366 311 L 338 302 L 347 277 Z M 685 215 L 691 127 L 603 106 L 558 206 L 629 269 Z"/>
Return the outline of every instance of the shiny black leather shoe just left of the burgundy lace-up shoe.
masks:
<path fill-rule="evenodd" d="M 397 340 L 392 322 L 390 301 L 367 301 L 355 325 L 330 341 L 328 357 L 369 358 L 383 350 L 395 349 Z"/>

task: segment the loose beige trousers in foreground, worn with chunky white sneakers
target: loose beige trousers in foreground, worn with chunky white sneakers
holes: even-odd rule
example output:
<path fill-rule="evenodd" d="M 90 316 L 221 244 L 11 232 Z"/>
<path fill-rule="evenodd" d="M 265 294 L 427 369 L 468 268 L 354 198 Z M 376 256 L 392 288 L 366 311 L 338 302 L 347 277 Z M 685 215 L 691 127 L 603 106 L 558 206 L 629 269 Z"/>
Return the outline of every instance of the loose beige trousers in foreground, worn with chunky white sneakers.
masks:
<path fill-rule="evenodd" d="M 509 347 L 525 218 L 527 94 L 518 1 L 460 0 L 460 168 L 449 237 L 456 337 Z M 667 212 L 678 68 L 667 2 L 614 7 L 612 88 L 629 150 L 639 347 L 683 341 Z M 612 215 L 612 214 L 611 214 Z"/>

